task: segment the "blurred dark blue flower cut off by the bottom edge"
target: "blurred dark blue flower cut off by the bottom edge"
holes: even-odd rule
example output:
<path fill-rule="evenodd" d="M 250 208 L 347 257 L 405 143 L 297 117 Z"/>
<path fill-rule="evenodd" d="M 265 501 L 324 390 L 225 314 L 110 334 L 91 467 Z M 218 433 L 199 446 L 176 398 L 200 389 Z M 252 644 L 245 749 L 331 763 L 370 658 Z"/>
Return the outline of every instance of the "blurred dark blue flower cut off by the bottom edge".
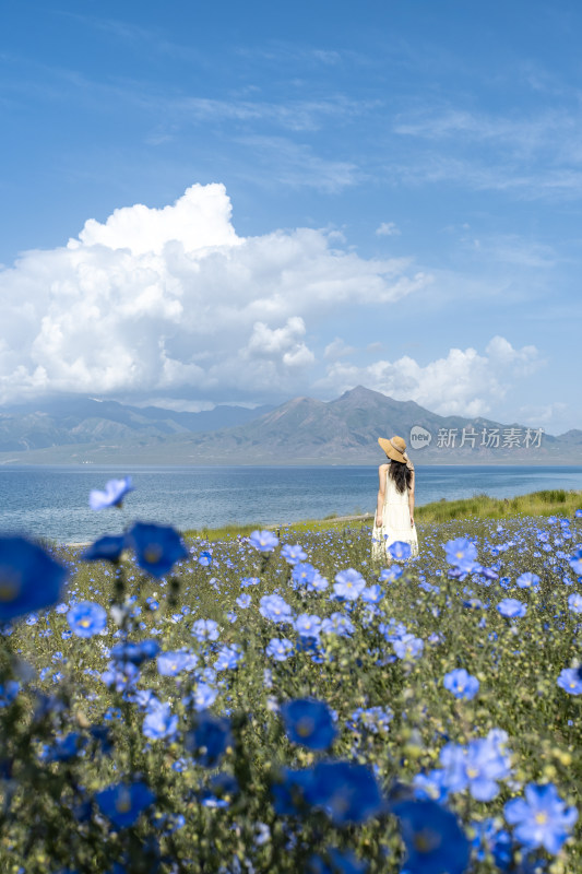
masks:
<path fill-rule="evenodd" d="M 470 843 L 456 817 L 433 801 L 403 801 L 394 805 L 406 847 L 407 874 L 462 874 Z"/>

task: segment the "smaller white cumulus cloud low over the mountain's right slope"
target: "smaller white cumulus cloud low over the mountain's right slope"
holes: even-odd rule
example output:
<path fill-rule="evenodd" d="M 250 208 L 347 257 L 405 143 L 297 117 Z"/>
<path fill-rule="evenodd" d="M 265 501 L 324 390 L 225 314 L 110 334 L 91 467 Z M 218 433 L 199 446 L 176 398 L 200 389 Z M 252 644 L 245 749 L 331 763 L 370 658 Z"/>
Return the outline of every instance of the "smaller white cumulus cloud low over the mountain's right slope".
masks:
<path fill-rule="evenodd" d="M 426 366 L 407 355 L 366 367 L 336 362 L 320 388 L 341 392 L 361 383 L 396 400 L 416 401 L 441 415 L 483 416 L 516 378 L 534 373 L 542 364 L 535 346 L 514 349 L 504 338 L 494 336 L 485 354 L 472 347 L 451 349 L 447 357 Z"/>

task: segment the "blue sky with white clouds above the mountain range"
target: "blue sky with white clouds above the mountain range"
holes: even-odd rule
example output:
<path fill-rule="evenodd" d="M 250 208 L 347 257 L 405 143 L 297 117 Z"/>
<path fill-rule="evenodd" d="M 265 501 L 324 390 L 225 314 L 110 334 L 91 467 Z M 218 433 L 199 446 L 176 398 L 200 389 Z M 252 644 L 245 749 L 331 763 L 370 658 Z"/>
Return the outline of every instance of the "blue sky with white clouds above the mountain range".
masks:
<path fill-rule="evenodd" d="M 0 402 L 364 383 L 582 427 L 581 32 L 573 0 L 4 0 Z"/>

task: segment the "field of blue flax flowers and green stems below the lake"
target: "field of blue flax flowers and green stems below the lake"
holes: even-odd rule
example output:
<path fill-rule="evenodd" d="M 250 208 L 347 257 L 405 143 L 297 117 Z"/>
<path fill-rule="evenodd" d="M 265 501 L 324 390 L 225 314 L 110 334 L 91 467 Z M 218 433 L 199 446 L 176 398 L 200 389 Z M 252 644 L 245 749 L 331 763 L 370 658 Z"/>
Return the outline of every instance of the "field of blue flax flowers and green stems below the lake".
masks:
<path fill-rule="evenodd" d="M 581 872 L 582 510 L 277 534 L 0 538 L 0 871 Z"/>

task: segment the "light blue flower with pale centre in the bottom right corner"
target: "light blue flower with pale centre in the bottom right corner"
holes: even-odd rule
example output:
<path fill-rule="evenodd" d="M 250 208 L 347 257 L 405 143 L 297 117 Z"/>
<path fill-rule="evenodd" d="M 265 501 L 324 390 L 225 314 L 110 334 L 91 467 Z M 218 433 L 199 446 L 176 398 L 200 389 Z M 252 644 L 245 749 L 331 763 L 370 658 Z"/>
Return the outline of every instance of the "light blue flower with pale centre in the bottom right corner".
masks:
<path fill-rule="evenodd" d="M 553 783 L 528 783 L 525 799 L 512 799 L 503 807 L 513 836 L 528 850 L 544 847 L 555 855 L 578 819 L 575 807 L 567 807 Z"/>

